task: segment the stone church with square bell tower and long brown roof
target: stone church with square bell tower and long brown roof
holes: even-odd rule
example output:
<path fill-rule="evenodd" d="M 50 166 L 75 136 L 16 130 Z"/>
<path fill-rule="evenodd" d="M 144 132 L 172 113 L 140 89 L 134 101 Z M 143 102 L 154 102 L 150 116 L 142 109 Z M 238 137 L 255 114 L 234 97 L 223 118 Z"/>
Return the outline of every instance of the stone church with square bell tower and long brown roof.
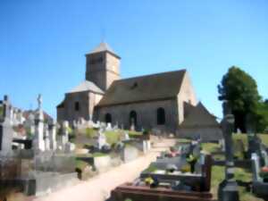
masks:
<path fill-rule="evenodd" d="M 121 79 L 120 63 L 121 57 L 106 43 L 86 54 L 86 80 L 65 94 L 63 102 L 57 106 L 58 121 L 83 118 L 123 125 L 125 129 L 135 125 L 136 130 L 178 133 L 190 111 L 200 109 L 188 71 Z M 215 117 L 206 109 L 201 110 L 203 119 L 208 121 L 205 124 L 218 133 Z M 187 122 L 187 128 L 195 125 Z"/>

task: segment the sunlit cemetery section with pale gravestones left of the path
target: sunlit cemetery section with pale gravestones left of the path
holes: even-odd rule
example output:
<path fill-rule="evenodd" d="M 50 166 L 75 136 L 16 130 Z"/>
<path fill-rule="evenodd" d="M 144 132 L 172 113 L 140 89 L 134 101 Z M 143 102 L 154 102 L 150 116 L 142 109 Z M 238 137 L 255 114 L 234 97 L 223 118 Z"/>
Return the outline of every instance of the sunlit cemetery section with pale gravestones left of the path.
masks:
<path fill-rule="evenodd" d="M 71 125 L 68 121 L 59 124 L 46 120 L 42 96 L 38 96 L 38 109 L 28 118 L 21 117 L 22 111 L 13 108 L 8 96 L 4 96 L 0 108 L 3 195 L 15 190 L 28 197 L 44 196 L 133 161 L 150 150 L 147 132 L 93 121 Z M 16 127 L 25 131 L 19 133 Z"/>

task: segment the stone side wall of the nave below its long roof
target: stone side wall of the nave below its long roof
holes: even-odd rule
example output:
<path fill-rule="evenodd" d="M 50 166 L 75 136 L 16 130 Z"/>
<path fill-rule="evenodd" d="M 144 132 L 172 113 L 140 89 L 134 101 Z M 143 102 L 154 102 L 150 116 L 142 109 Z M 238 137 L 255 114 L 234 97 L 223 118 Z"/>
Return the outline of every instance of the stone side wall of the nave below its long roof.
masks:
<path fill-rule="evenodd" d="M 165 124 L 157 125 L 157 109 L 165 111 Z M 112 124 L 123 124 L 124 129 L 130 129 L 130 112 L 137 113 L 137 130 L 155 129 L 175 131 L 179 126 L 177 100 L 169 99 L 154 102 L 133 103 L 129 105 L 112 105 L 97 108 L 97 119 L 105 121 L 106 113 L 112 115 Z"/>

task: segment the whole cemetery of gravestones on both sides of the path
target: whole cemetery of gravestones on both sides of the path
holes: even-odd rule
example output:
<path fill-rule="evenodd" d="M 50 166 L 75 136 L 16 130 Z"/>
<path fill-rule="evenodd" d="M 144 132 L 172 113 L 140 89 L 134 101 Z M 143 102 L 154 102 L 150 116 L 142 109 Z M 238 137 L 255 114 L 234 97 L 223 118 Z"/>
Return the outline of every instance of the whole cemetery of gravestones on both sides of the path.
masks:
<path fill-rule="evenodd" d="M 224 107 L 224 106 L 223 106 Z M 40 197 L 90 180 L 122 163 L 146 155 L 159 131 L 124 130 L 94 121 L 45 121 L 42 96 L 38 109 L 21 116 L 7 96 L 1 104 L 1 192 Z M 113 189 L 111 200 L 267 200 L 268 137 L 233 133 L 225 112 L 219 142 L 174 138 L 139 177 Z M 19 115 L 19 114 L 20 115 Z M 21 126 L 21 135 L 14 128 Z M 155 136 L 156 134 L 156 136 Z M 225 173 L 224 173 L 225 172 Z M 162 197 L 162 198 L 161 198 Z"/>

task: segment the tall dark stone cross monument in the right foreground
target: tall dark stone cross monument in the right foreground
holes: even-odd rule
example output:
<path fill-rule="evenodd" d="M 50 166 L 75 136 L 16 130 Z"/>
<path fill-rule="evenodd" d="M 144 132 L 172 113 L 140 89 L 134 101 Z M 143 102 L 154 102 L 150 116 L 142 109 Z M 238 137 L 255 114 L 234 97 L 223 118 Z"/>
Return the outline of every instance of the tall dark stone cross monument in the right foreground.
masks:
<path fill-rule="evenodd" d="M 225 141 L 225 180 L 219 186 L 219 201 L 239 201 L 239 188 L 234 178 L 234 161 L 232 147 L 232 132 L 234 130 L 234 116 L 231 114 L 230 105 L 224 102 L 223 105 L 222 132 Z"/>

